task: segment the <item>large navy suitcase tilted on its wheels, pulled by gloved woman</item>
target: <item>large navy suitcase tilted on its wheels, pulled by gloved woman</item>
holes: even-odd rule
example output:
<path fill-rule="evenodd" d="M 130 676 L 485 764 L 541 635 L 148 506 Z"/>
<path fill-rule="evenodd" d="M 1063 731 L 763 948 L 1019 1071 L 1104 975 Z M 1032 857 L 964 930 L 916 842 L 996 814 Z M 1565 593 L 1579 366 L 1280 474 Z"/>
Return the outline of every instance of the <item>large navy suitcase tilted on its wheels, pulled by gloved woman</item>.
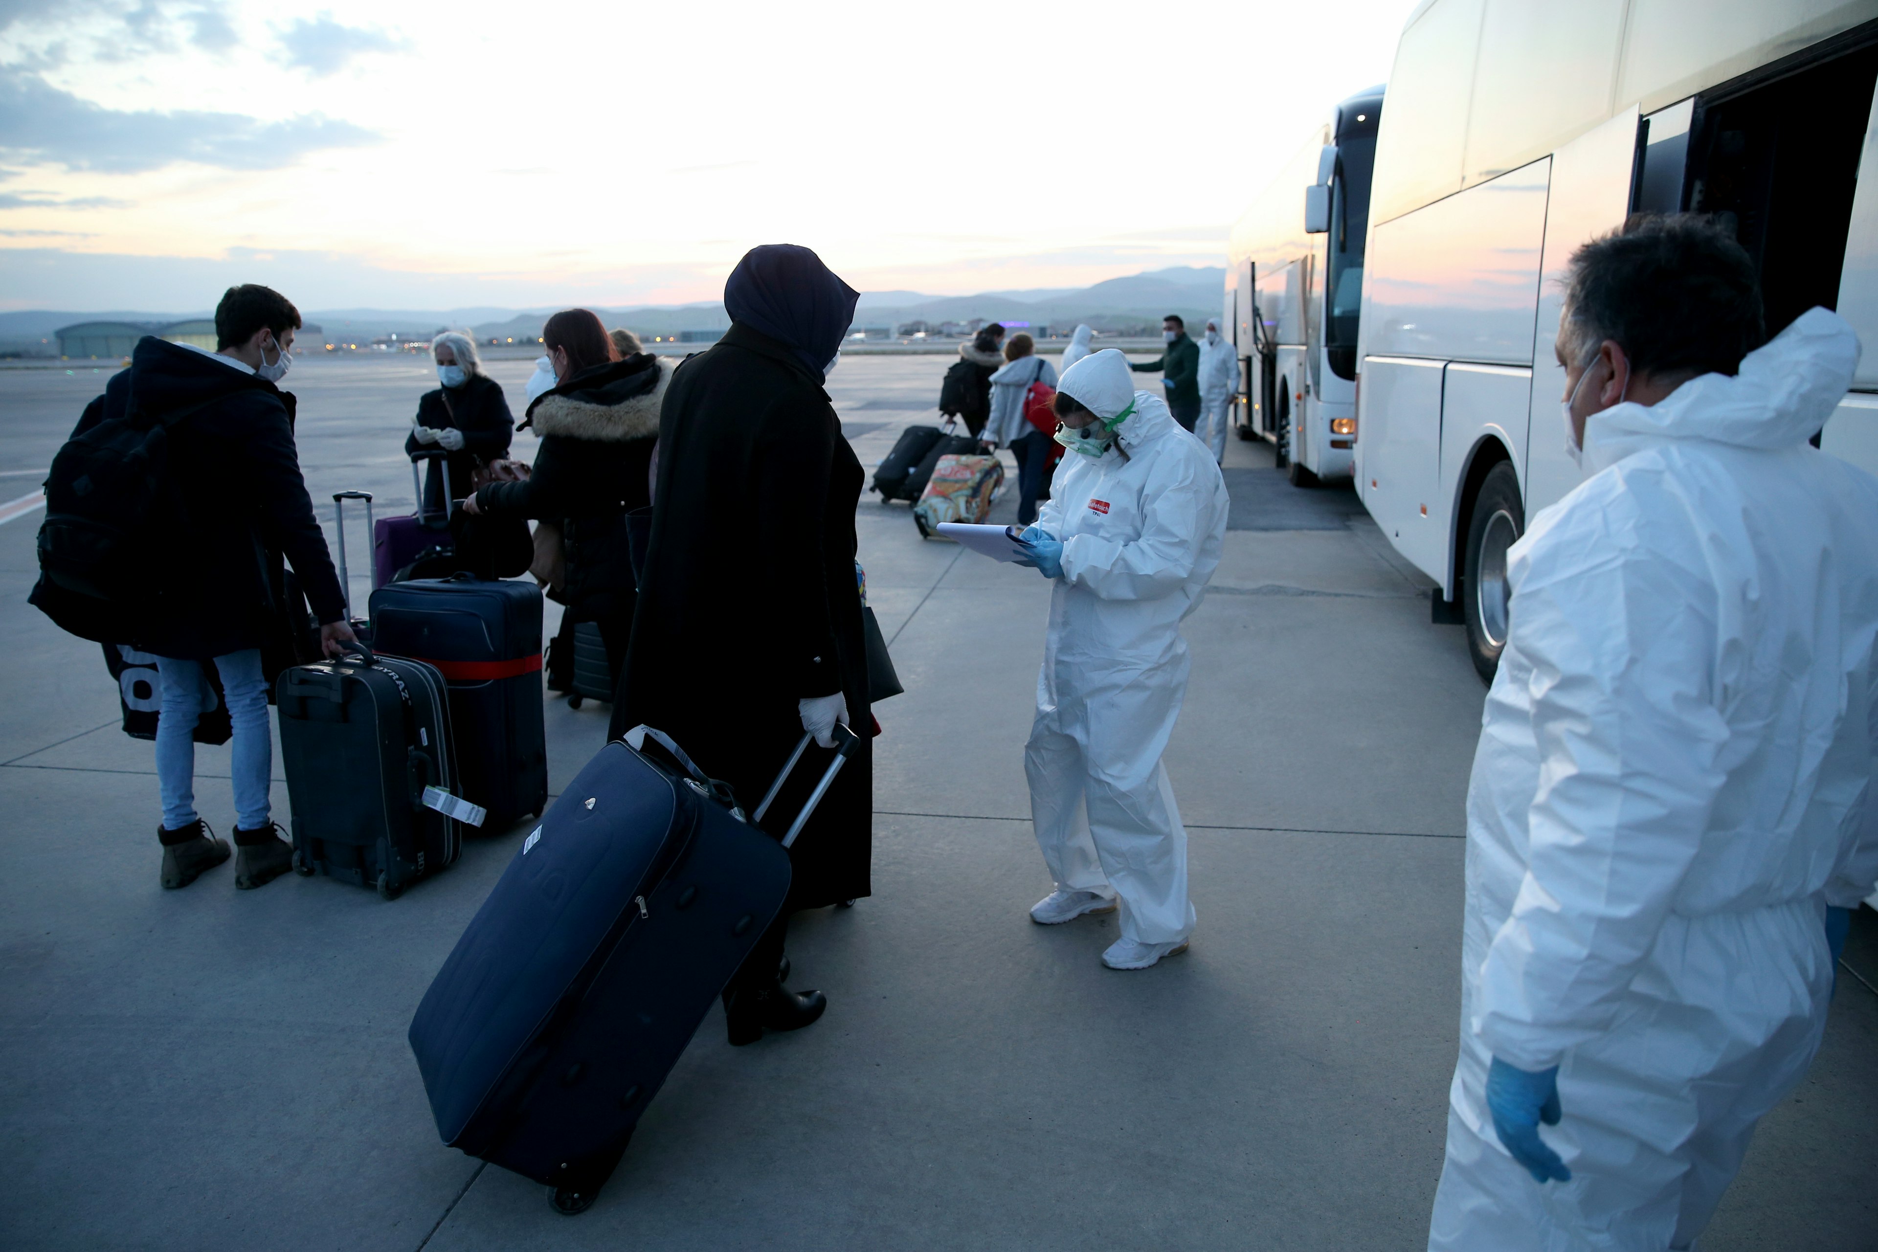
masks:
<path fill-rule="evenodd" d="M 781 910 L 785 848 L 858 743 L 845 726 L 838 740 L 781 841 L 755 818 L 806 738 L 749 820 L 729 786 L 657 730 L 637 726 L 588 762 L 522 841 L 411 1021 L 445 1143 L 546 1183 L 562 1213 L 593 1201 Z"/>

